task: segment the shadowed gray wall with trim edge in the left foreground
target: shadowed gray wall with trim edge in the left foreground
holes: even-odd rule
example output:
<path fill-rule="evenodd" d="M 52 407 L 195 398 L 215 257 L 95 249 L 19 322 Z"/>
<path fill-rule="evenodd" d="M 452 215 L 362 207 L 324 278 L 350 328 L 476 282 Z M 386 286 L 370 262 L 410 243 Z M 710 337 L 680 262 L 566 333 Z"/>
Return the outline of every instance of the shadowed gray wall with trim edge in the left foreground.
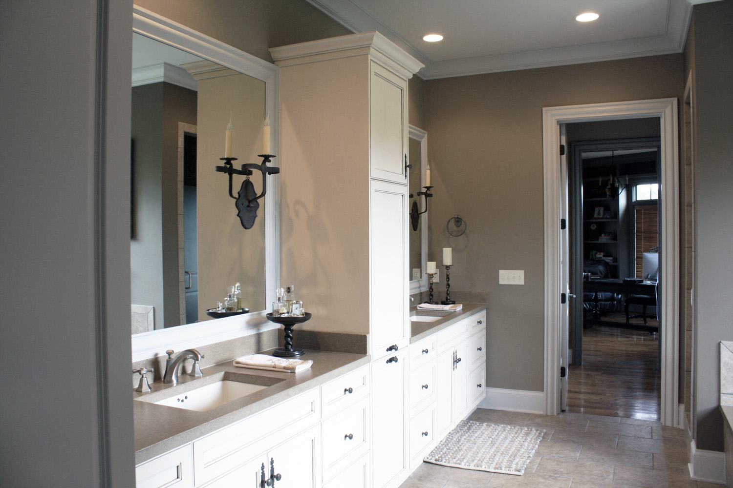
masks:
<path fill-rule="evenodd" d="M 2 6 L 3 486 L 134 484 L 130 28 L 124 1 Z"/>

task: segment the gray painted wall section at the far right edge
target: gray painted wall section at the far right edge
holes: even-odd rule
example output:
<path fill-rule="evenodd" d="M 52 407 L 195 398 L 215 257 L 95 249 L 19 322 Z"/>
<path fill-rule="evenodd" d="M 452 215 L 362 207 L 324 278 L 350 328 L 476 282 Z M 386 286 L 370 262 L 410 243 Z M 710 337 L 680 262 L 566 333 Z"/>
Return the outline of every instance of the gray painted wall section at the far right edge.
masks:
<path fill-rule="evenodd" d="M 697 448 L 723 451 L 721 340 L 733 339 L 733 1 L 694 7 Z"/>

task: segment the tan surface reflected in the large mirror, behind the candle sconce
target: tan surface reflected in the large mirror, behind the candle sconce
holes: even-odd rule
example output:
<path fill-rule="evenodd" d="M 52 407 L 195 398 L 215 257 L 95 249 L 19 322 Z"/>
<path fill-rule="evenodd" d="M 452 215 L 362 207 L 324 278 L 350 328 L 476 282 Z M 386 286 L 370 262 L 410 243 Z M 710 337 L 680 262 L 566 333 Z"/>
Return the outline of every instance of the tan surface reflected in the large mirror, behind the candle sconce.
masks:
<path fill-rule="evenodd" d="M 205 309 L 224 301 L 226 288 L 242 285 L 242 307 L 255 310 L 265 304 L 265 198 L 257 200 L 254 227 L 244 229 L 237 217 L 235 200 L 229 197 L 226 174 L 214 167 L 224 164 L 224 140 L 232 114 L 232 156 L 235 168 L 261 163 L 265 122 L 265 82 L 237 74 L 199 80 L 197 127 L 198 168 L 197 230 L 199 250 L 199 320 L 208 320 Z M 277 162 L 277 160 L 275 160 Z M 234 176 L 236 196 L 243 176 Z M 262 173 L 251 176 L 254 189 L 262 192 Z M 192 320 L 189 320 L 192 321 Z"/>

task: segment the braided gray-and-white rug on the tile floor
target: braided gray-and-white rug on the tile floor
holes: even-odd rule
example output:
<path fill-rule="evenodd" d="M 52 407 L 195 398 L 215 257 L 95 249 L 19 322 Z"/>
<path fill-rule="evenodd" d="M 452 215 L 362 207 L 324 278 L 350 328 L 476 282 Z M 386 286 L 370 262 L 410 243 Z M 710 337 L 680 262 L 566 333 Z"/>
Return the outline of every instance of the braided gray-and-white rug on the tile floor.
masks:
<path fill-rule="evenodd" d="M 435 465 L 524 474 L 545 429 L 461 421 L 423 458 Z"/>

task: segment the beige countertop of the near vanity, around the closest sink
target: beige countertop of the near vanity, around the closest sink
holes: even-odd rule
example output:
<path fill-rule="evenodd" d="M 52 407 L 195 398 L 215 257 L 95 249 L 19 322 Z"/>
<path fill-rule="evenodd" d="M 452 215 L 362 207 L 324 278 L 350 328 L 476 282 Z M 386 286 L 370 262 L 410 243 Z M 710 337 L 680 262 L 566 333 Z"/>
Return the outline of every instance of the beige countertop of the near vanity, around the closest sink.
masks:
<path fill-rule="evenodd" d="M 272 351 L 265 350 L 262 353 L 268 354 Z M 150 384 L 152 389 L 150 393 L 133 391 L 135 464 L 183 446 L 191 440 L 265 410 L 303 391 L 316 388 L 364 364 L 369 364 L 370 356 L 306 350 L 306 353 L 298 359 L 310 359 L 313 364 L 304 371 L 290 373 L 240 368 L 233 366 L 232 361 L 226 361 L 202 369 L 204 374 L 202 378 L 180 375 L 177 385 L 166 385 L 158 381 Z M 221 380 L 227 372 L 265 377 L 263 378 L 265 383 L 277 383 L 205 412 L 153 403 Z M 139 400 L 140 397 L 144 397 L 145 401 Z"/>

